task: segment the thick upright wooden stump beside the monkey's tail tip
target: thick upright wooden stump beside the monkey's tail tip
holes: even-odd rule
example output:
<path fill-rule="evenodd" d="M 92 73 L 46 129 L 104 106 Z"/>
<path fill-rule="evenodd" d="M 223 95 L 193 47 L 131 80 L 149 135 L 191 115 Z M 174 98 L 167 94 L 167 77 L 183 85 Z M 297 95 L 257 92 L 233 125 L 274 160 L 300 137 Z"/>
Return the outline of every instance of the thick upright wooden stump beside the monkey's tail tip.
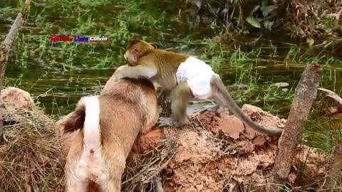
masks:
<path fill-rule="evenodd" d="M 296 87 L 289 117 L 279 139 L 279 152 L 273 169 L 274 183 L 284 184 L 287 181 L 295 157 L 296 146 L 300 142 L 301 127 L 309 116 L 311 105 L 317 95 L 320 72 L 321 68 L 318 63 L 311 63 L 304 70 Z"/>

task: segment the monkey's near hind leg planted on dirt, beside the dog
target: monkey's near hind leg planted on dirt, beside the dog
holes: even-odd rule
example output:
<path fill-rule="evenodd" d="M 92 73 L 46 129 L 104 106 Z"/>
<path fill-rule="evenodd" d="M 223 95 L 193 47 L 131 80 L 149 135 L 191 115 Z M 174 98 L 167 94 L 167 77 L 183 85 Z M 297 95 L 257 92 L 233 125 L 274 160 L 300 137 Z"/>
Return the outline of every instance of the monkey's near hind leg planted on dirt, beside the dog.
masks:
<path fill-rule="evenodd" d="M 182 82 L 171 90 L 171 117 L 160 117 L 159 127 L 182 126 L 189 123 L 187 119 L 187 102 L 192 99 L 190 87 L 187 82 Z"/>

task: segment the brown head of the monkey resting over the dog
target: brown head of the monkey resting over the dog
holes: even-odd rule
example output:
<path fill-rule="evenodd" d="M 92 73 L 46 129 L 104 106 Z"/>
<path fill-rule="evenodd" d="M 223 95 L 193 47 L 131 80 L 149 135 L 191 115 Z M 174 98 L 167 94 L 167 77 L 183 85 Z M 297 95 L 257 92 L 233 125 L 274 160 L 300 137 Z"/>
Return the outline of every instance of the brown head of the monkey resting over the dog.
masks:
<path fill-rule="evenodd" d="M 156 48 L 153 43 L 135 39 L 127 46 L 124 57 L 128 65 L 135 66 L 143 55 L 152 52 Z"/>

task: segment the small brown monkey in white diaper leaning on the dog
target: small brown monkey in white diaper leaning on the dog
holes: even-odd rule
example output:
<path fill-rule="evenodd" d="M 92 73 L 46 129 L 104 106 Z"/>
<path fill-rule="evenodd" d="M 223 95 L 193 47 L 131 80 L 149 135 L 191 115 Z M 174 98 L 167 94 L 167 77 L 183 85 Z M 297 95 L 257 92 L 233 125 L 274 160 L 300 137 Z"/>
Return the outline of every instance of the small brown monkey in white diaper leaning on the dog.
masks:
<path fill-rule="evenodd" d="M 221 113 L 224 107 L 228 107 L 242 122 L 258 132 L 270 135 L 282 133 L 281 129 L 266 129 L 249 119 L 234 102 L 219 75 L 202 60 L 160 50 L 141 40 L 132 41 L 124 56 L 130 67 L 119 70 L 116 78 L 148 78 L 162 87 L 161 95 L 170 92 L 172 114 L 171 117 L 160 117 L 160 127 L 186 124 L 186 106 L 190 100 L 213 99 L 217 105 L 204 110 Z"/>

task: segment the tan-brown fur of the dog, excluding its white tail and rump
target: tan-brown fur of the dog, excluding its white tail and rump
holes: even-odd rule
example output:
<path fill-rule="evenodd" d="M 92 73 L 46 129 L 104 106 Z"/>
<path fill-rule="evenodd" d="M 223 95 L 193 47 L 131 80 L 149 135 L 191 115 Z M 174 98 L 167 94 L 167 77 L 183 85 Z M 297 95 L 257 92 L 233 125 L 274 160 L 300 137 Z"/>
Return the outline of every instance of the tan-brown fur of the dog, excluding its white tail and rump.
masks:
<path fill-rule="evenodd" d="M 96 183 L 103 188 L 102 191 L 120 191 L 125 159 L 128 157 L 135 138 L 139 132 L 149 131 L 159 117 L 155 88 L 148 80 L 115 80 L 113 75 L 98 99 L 100 102 L 102 158 L 111 178 L 108 183 L 96 183 L 93 182 L 96 178 L 90 178 L 91 182 L 85 181 L 80 186 L 88 186 L 88 184 L 94 186 Z M 77 127 L 81 128 L 79 132 L 76 132 L 68 151 L 66 160 L 67 188 L 74 182 L 71 181 L 73 180 L 73 171 L 77 171 L 75 165 L 83 151 L 81 124 L 82 119 L 84 122 L 84 114 L 84 106 L 78 105 L 64 126 L 64 132 L 77 130 Z M 90 188 L 90 186 L 88 187 Z"/>

